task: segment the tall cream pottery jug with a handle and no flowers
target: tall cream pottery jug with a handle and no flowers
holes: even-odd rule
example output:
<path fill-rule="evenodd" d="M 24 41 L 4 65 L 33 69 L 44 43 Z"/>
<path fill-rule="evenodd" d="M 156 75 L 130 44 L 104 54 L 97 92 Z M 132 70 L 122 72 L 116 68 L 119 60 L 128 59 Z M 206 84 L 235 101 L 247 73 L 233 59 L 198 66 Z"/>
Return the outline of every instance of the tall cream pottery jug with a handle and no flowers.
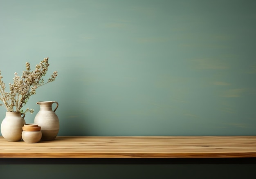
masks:
<path fill-rule="evenodd" d="M 54 110 L 52 110 L 53 103 L 57 104 Z M 41 126 L 41 140 L 54 140 L 60 128 L 58 116 L 55 114 L 58 103 L 56 101 L 39 101 L 36 104 L 40 105 L 40 110 L 35 116 L 34 123 Z"/>

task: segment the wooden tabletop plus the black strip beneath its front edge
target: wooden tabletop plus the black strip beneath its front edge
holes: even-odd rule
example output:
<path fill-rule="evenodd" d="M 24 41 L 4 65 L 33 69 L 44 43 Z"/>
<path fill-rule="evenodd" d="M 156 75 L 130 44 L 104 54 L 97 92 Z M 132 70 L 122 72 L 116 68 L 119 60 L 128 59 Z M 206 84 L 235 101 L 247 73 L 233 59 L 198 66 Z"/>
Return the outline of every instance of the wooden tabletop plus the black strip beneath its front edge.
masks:
<path fill-rule="evenodd" d="M 57 136 L 39 143 L 0 136 L 0 164 L 252 163 L 256 136 Z"/>

